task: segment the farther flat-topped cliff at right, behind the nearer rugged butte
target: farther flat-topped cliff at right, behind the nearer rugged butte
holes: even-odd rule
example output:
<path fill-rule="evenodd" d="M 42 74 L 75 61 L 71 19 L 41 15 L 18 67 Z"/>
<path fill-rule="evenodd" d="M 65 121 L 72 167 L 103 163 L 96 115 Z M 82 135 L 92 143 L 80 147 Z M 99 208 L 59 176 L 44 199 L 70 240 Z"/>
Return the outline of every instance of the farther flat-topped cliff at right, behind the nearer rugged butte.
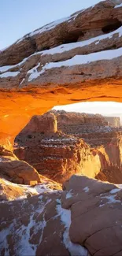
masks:
<path fill-rule="evenodd" d="M 96 177 L 122 183 L 122 128 L 116 125 L 116 121 L 120 124 L 120 117 L 113 117 L 113 124 L 109 124 L 108 117 L 102 115 L 56 110 L 53 113 L 57 117 L 58 130 L 83 139 L 91 147 L 92 154 L 99 156 L 101 167 Z"/>

